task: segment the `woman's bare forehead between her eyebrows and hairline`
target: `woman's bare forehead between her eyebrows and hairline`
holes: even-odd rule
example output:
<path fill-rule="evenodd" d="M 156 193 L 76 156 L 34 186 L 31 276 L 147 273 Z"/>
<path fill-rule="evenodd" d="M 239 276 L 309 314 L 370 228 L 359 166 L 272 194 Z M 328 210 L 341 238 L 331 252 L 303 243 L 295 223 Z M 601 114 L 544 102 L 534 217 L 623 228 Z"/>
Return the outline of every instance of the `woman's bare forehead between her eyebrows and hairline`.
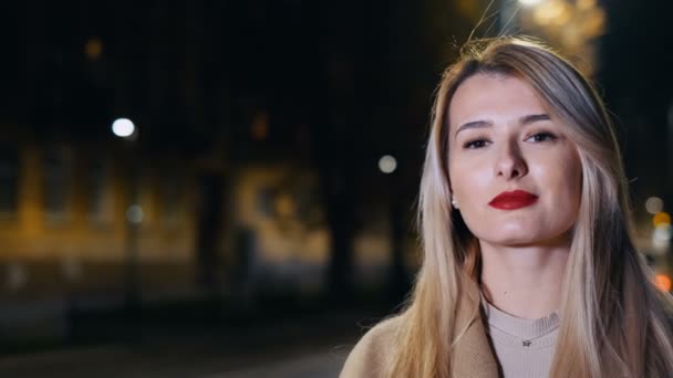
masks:
<path fill-rule="evenodd" d="M 503 74 L 476 74 L 458 85 L 449 107 L 452 129 L 474 120 L 518 119 L 529 114 L 549 112 L 526 81 Z"/>

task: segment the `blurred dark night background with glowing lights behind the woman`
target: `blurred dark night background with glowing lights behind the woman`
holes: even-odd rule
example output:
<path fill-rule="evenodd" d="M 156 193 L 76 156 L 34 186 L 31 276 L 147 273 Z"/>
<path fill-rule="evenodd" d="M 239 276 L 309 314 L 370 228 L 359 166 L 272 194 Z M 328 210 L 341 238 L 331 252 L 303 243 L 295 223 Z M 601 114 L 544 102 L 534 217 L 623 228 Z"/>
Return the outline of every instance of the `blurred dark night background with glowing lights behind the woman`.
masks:
<path fill-rule="evenodd" d="M 593 78 L 671 288 L 671 1 L 2 10 L 2 376 L 335 377 L 411 287 L 432 95 L 473 30 Z"/>

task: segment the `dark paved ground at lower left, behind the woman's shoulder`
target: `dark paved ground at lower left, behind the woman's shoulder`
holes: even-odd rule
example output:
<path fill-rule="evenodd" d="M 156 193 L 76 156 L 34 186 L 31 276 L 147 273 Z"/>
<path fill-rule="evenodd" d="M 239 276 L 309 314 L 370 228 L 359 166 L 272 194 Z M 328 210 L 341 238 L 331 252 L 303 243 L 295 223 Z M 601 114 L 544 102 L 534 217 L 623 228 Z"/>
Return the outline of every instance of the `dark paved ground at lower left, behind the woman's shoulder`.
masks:
<path fill-rule="evenodd" d="M 375 314 L 375 315 L 373 315 Z M 229 327 L 145 325 L 131 343 L 0 357 L 2 377 L 336 377 L 377 311 L 341 311 Z"/>

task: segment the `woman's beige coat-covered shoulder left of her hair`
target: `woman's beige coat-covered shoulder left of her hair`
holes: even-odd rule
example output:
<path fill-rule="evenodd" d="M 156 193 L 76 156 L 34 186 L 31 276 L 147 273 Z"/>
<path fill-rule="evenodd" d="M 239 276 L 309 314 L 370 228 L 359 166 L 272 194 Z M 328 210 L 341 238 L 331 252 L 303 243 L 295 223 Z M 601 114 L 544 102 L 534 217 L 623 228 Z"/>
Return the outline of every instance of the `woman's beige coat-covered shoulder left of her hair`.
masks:
<path fill-rule="evenodd" d="M 340 378 L 381 377 L 402 316 L 387 318 L 367 330 L 349 354 Z"/>

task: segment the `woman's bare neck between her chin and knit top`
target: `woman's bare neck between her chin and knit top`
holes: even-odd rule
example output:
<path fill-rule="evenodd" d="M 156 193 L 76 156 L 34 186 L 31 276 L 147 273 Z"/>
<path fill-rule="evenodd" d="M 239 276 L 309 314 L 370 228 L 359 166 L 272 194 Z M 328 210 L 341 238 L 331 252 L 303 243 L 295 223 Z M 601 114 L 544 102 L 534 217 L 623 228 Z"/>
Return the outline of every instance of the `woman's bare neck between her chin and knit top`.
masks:
<path fill-rule="evenodd" d="M 536 319 L 558 311 L 567 243 L 503 246 L 484 241 L 482 290 L 486 300 L 510 315 Z"/>

